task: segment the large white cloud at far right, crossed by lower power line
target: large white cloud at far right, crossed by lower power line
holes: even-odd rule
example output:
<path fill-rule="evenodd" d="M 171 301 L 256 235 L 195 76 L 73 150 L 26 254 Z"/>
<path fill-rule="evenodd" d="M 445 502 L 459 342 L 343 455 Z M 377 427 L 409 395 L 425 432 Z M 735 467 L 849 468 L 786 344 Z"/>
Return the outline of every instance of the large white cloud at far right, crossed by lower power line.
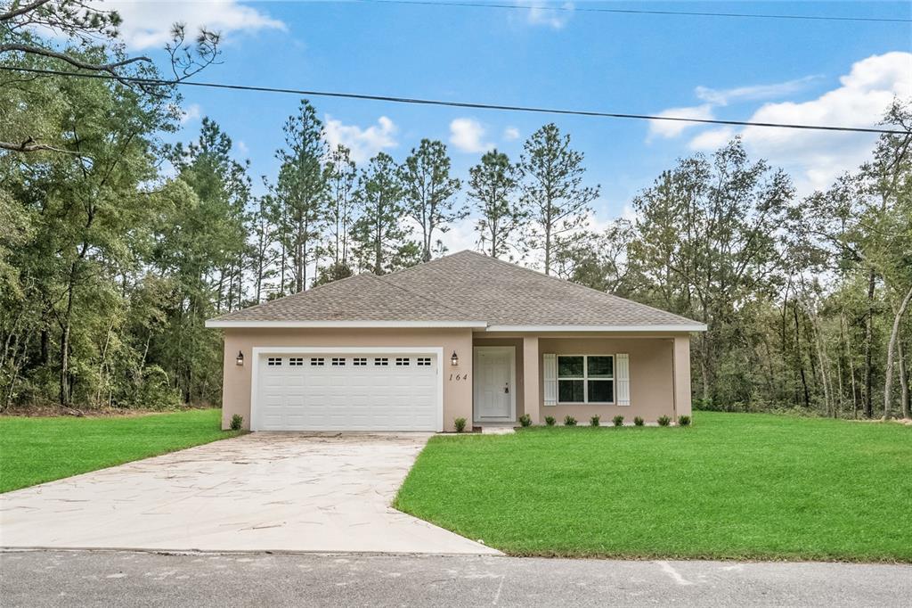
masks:
<path fill-rule="evenodd" d="M 839 87 L 815 100 L 767 103 L 754 112 L 750 121 L 874 126 L 896 97 L 912 97 L 912 53 L 893 52 L 862 59 L 839 81 Z M 712 137 L 702 133 L 690 145 L 709 143 Z M 745 127 L 741 137 L 751 154 L 791 173 L 800 194 L 826 188 L 840 174 L 854 171 L 870 157 L 877 139 L 875 133 L 762 127 Z"/>

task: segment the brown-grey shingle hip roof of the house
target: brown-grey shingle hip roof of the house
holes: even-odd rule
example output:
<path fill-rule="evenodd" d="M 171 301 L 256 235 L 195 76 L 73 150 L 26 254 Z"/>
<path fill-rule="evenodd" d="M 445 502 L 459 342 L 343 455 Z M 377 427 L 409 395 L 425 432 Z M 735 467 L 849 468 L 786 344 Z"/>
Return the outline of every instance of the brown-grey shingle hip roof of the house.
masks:
<path fill-rule="evenodd" d="M 358 275 L 217 321 L 481 321 L 488 326 L 697 326 L 696 321 L 472 251 Z"/>

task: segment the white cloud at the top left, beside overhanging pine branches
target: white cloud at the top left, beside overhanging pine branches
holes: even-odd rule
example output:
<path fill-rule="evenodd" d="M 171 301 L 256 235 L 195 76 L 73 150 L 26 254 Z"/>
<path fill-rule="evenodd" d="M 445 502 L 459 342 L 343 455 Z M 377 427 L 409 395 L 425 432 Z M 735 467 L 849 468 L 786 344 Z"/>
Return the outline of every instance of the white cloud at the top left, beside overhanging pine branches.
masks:
<path fill-rule="evenodd" d="M 171 25 L 175 22 L 187 26 L 187 35 L 191 40 L 201 26 L 221 32 L 226 40 L 240 32 L 286 29 L 278 19 L 237 0 L 113 0 L 92 2 L 92 5 L 119 13 L 123 19 L 120 35 L 127 47 L 133 50 L 163 47 L 171 40 Z"/>

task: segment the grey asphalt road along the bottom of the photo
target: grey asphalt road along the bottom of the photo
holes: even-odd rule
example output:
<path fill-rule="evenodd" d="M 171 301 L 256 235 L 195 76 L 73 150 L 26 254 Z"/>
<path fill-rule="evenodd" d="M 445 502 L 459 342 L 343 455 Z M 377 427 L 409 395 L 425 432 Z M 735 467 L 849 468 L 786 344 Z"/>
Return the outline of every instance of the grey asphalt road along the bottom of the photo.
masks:
<path fill-rule="evenodd" d="M 0 553 L 12 606 L 908 606 L 912 566 L 395 555 Z"/>

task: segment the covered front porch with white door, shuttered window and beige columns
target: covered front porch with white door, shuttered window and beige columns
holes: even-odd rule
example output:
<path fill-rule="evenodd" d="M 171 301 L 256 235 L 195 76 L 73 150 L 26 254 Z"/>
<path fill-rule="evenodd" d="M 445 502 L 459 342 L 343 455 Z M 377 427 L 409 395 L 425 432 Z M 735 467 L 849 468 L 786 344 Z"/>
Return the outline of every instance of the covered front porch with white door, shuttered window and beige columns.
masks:
<path fill-rule="evenodd" d="M 472 425 L 482 428 L 519 425 L 523 414 L 533 425 L 690 414 L 685 333 L 476 333 L 472 368 Z"/>

